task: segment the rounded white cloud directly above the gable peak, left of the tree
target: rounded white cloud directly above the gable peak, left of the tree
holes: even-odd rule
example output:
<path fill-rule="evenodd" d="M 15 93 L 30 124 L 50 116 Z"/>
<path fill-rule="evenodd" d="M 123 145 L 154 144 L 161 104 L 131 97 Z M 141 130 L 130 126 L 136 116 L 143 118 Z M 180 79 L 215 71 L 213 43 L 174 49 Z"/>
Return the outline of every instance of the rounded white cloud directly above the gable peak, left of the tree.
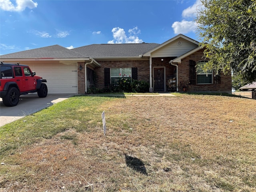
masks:
<path fill-rule="evenodd" d="M 181 22 L 176 21 L 172 24 L 172 28 L 175 34 L 186 34 L 188 32 L 195 32 L 197 23 L 194 21 L 182 20 Z"/>

